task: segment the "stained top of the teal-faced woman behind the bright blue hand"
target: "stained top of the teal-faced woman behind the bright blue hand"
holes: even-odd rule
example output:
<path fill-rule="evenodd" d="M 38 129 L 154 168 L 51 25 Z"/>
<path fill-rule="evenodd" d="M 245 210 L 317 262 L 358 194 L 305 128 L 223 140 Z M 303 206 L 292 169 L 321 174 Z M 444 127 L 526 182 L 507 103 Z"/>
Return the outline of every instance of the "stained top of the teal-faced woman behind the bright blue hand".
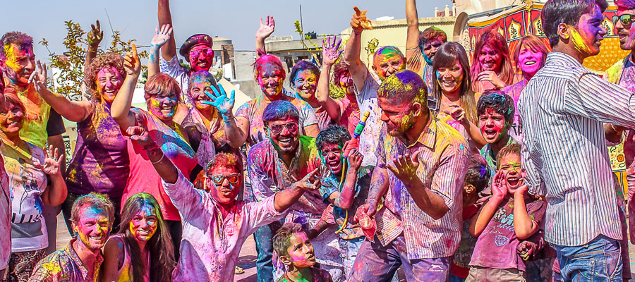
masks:
<path fill-rule="evenodd" d="M 196 151 L 198 164 L 202 167 L 207 166 L 216 155 L 216 152 L 227 144 L 224 137 L 223 119 L 215 109 L 209 128 L 205 126 L 205 121 L 195 106 L 188 111 L 181 126 L 183 126 L 188 135 L 192 149 Z"/>

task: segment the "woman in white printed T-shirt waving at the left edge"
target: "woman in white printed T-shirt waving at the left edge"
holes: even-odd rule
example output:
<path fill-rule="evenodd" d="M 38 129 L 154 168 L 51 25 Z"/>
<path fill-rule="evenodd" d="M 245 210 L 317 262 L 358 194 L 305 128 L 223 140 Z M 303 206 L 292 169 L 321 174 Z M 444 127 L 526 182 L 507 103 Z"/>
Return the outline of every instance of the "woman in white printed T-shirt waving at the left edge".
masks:
<path fill-rule="evenodd" d="M 47 231 L 42 207 L 61 204 L 66 183 L 60 171 L 63 156 L 57 149 L 50 146 L 47 153 L 20 137 L 25 108 L 14 91 L 4 93 L 6 106 L 0 109 L 0 153 L 12 206 L 8 281 L 27 281 L 35 264 L 46 257 L 48 232 L 56 232 Z"/>

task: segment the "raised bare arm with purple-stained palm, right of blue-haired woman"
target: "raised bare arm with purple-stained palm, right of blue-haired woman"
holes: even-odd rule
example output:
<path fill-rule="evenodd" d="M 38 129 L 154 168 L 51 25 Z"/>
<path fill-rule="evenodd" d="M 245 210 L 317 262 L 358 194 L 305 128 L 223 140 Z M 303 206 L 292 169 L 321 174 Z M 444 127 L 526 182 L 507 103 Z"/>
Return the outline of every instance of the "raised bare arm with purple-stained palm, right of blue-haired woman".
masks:
<path fill-rule="evenodd" d="M 341 102 L 331 98 L 329 90 L 329 82 L 331 81 L 331 67 L 339 58 L 339 55 L 344 50 L 338 50 L 341 44 L 341 38 L 335 44 L 337 37 L 331 39 L 327 37 L 326 42 L 322 39 L 322 73 L 320 73 L 320 79 L 317 80 L 317 90 L 315 90 L 315 96 L 317 102 L 320 102 L 325 107 L 327 114 L 331 117 L 335 123 L 341 121 Z"/>

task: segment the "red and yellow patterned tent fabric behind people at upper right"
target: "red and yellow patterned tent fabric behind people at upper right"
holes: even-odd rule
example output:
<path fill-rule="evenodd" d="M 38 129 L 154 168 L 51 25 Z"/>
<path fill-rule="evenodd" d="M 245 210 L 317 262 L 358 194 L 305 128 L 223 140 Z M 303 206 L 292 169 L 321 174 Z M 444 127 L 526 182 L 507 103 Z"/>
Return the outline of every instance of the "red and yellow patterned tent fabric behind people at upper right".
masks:
<path fill-rule="evenodd" d="M 476 41 L 483 32 L 488 30 L 496 30 L 507 40 L 509 51 L 513 51 L 519 39 L 528 34 L 537 35 L 545 40 L 545 44 L 549 46 L 549 41 L 543 33 L 543 23 L 540 18 L 543 4 L 533 4 L 531 7 L 525 5 L 517 6 L 507 11 L 502 11 L 487 20 L 470 20 L 469 27 L 469 44 L 466 49 L 470 52 L 474 51 Z M 584 66 L 594 73 L 603 75 L 607 68 L 610 68 L 616 61 L 624 59 L 629 53 L 619 48 L 619 37 L 615 31 L 611 18 L 617 14 L 616 6 L 609 6 L 604 12 L 604 22 L 602 23 L 607 35 L 604 37 L 600 54 L 584 60 Z"/>

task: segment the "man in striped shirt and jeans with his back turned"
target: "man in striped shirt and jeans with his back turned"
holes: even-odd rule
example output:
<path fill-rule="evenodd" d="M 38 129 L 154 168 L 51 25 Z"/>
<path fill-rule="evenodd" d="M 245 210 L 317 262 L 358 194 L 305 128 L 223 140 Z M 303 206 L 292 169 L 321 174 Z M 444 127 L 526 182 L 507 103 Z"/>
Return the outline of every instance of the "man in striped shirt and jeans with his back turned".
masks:
<path fill-rule="evenodd" d="M 564 281 L 622 281 L 621 222 L 603 122 L 635 126 L 635 94 L 582 66 L 600 52 L 606 8 L 605 0 L 545 4 L 543 28 L 553 51 L 519 100 L 525 182 L 547 197 L 545 240 L 557 251 Z"/>

